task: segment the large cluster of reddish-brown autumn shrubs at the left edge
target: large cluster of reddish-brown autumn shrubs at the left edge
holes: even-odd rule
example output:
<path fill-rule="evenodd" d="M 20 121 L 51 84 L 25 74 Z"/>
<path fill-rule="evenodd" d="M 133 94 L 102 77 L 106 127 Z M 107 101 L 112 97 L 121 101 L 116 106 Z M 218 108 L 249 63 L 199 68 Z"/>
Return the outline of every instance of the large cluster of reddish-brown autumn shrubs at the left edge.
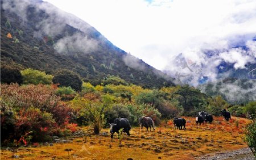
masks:
<path fill-rule="evenodd" d="M 47 85 L 1 85 L 1 142 L 50 141 L 64 135 L 72 109 Z"/>

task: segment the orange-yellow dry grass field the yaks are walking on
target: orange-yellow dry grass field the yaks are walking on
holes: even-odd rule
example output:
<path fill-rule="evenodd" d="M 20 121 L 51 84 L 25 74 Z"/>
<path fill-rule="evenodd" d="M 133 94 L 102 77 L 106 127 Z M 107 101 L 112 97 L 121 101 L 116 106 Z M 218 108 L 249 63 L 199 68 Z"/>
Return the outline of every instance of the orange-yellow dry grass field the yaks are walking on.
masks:
<path fill-rule="evenodd" d="M 194 159 L 199 155 L 246 146 L 243 130 L 249 120 L 232 117 L 227 122 L 222 117 L 214 117 L 213 124 L 200 126 L 193 117 L 185 119 L 187 130 L 174 130 L 172 121 L 152 132 L 133 127 L 130 137 L 123 134 L 121 145 L 117 135 L 113 141 L 110 136 L 91 135 L 74 138 L 69 144 L 19 148 L 16 155 L 22 159 Z M 88 128 L 82 129 L 90 132 Z M 102 132 L 109 133 L 109 129 Z M 1 159 L 10 159 L 11 155 L 11 151 L 1 150 Z"/>

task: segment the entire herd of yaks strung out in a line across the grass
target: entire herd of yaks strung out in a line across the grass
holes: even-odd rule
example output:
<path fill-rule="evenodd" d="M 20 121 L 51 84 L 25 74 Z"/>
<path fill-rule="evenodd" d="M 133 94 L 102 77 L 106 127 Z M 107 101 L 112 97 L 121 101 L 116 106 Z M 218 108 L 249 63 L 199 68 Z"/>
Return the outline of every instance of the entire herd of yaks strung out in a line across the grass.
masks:
<path fill-rule="evenodd" d="M 221 110 L 221 114 L 222 116 L 228 121 L 229 119 L 231 119 L 230 116 L 230 112 L 226 111 L 225 109 Z M 213 116 L 209 115 L 209 113 L 201 111 L 199 112 L 199 114 L 196 117 L 196 124 L 200 124 L 201 123 L 207 123 L 207 121 L 209 121 L 209 123 L 211 124 L 213 121 Z M 186 120 L 183 118 L 174 118 L 174 127 L 179 128 L 179 129 L 186 129 L 185 128 L 185 124 L 186 124 Z M 126 118 L 117 118 L 114 120 L 114 123 L 109 124 L 110 125 L 110 133 L 111 133 L 111 138 L 113 139 L 113 134 L 114 133 L 118 133 L 119 136 L 119 130 L 122 129 L 122 132 L 127 133 L 128 136 L 130 136 L 130 129 L 131 129 L 131 125 L 129 123 L 129 120 L 127 120 Z M 155 124 L 154 121 L 151 119 L 151 117 L 141 117 L 139 118 L 139 125 L 141 126 L 141 129 L 143 127 L 150 128 L 151 131 L 151 127 L 155 130 Z"/>

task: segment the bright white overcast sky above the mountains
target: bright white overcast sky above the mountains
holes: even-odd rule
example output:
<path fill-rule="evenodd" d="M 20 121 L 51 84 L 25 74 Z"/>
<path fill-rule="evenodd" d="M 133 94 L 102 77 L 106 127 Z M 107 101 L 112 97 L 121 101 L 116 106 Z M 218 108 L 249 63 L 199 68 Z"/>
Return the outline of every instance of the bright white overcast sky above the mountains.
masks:
<path fill-rule="evenodd" d="M 255 0 L 46 1 L 160 70 L 179 53 L 197 62 L 201 49 L 228 48 L 256 33 Z"/>

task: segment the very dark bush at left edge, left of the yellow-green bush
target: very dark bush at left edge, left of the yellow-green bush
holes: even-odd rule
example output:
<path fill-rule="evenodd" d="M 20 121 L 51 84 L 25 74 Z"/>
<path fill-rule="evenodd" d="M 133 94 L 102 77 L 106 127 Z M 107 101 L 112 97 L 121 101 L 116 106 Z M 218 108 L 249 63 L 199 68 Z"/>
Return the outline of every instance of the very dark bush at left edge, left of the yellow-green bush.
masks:
<path fill-rule="evenodd" d="M 18 83 L 23 82 L 22 74 L 18 69 L 13 69 L 10 66 L 1 67 L 1 83 Z"/>

